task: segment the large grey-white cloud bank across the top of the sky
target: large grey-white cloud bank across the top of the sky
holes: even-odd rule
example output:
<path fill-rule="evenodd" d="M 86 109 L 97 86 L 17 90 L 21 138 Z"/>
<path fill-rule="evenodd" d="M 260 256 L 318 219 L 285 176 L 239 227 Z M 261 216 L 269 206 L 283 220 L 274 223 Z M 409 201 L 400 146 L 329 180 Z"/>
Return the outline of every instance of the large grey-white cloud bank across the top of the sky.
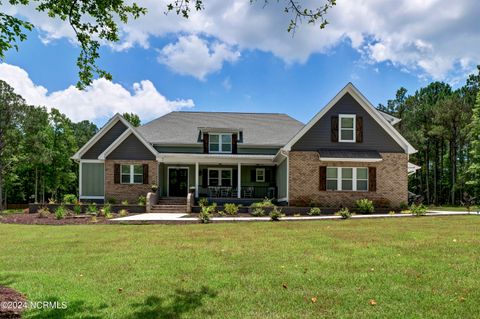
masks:
<path fill-rule="evenodd" d="M 303 24 L 294 37 L 286 32 L 291 16 L 283 13 L 283 1 L 270 1 L 264 6 L 263 1 L 211 0 L 205 3 L 204 11 L 192 12 L 189 20 L 174 13 L 165 15 L 167 2 L 171 0 L 143 0 L 141 5 L 148 8 L 148 14 L 122 27 L 123 42 L 114 48 L 124 50 L 135 45 L 149 48 L 152 36 L 179 34 L 179 42 L 166 48 L 172 49 L 181 60 L 193 50 L 181 39 L 194 42 L 195 35 L 202 34 L 217 39 L 216 43 L 225 45 L 230 53 L 234 52 L 232 46 L 240 51 L 257 49 L 271 52 L 286 63 L 303 63 L 312 54 L 328 53 L 349 40 L 347 43 L 371 63 L 390 62 L 399 69 L 447 80 L 452 74 L 471 71 L 480 61 L 480 1 L 338 1 L 328 13 L 330 24 L 326 29 Z M 318 5 L 313 0 L 303 3 Z M 44 30 L 45 39 L 72 36 L 65 23 L 52 22 L 44 13 L 39 17 L 31 6 L 19 12 Z M 205 47 L 202 50 L 205 54 Z M 214 63 L 217 60 L 211 55 L 210 52 L 209 63 L 200 62 L 215 65 L 214 70 L 218 70 L 222 64 Z M 178 67 L 173 58 L 167 61 Z M 180 72 L 198 78 L 209 73 L 205 65 L 186 65 Z"/>

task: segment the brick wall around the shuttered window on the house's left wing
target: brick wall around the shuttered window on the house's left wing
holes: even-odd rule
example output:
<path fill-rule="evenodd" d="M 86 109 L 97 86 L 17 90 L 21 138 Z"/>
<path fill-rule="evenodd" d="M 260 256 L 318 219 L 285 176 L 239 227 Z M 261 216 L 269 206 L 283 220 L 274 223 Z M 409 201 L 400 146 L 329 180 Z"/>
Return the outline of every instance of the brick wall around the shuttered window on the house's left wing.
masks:
<path fill-rule="evenodd" d="M 148 164 L 148 184 L 115 184 L 115 164 Z M 128 200 L 129 203 L 137 202 L 140 195 L 147 196 L 151 185 L 158 185 L 158 163 L 156 161 L 138 160 L 106 160 L 105 161 L 105 199 L 114 198 L 117 202 Z"/>

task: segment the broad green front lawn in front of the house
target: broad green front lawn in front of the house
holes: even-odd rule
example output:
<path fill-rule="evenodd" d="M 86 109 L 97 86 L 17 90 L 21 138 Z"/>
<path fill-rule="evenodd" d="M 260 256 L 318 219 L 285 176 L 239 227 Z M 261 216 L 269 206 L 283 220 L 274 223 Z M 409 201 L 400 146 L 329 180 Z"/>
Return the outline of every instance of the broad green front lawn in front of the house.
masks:
<path fill-rule="evenodd" d="M 473 318 L 479 231 L 478 216 L 0 224 L 0 284 L 68 303 L 37 319 Z"/>

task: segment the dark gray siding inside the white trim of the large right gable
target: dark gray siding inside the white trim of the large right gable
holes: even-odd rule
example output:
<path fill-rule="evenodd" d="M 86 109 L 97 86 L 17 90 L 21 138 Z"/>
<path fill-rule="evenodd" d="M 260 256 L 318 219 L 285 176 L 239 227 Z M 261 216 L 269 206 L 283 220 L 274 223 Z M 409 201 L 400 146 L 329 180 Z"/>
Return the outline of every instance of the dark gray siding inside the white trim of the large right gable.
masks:
<path fill-rule="evenodd" d="M 363 141 L 361 143 L 332 142 L 331 117 L 339 114 L 356 114 L 357 117 L 361 116 L 363 118 Z M 404 149 L 348 93 L 324 114 L 292 147 L 293 151 L 317 151 L 318 149 L 404 152 Z"/>

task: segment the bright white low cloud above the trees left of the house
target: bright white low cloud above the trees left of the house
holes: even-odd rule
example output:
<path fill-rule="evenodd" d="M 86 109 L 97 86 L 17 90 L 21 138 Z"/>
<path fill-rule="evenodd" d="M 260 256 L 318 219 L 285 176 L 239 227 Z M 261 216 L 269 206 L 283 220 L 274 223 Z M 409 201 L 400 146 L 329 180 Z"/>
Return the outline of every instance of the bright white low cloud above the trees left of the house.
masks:
<path fill-rule="evenodd" d="M 0 79 L 11 85 L 29 104 L 57 108 L 73 121 L 98 121 L 115 113 L 133 112 L 143 121 L 186 107 L 193 107 L 188 100 L 168 100 L 149 80 L 133 84 L 133 93 L 117 83 L 105 79 L 94 80 L 84 91 L 74 86 L 49 93 L 36 85 L 22 68 L 0 63 Z"/>

